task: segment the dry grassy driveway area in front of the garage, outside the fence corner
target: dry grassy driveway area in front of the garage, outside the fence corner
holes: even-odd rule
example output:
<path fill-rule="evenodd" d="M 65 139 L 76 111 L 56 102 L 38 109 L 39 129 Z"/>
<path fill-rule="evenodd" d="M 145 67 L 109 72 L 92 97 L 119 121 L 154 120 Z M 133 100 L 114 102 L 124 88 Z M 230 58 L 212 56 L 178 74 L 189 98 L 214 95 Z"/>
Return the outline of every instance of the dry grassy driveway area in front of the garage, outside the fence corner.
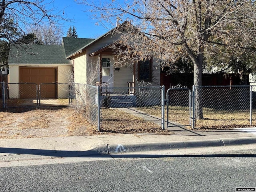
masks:
<path fill-rule="evenodd" d="M 78 136 L 96 128 L 74 109 L 12 109 L 0 112 L 0 138 Z"/>

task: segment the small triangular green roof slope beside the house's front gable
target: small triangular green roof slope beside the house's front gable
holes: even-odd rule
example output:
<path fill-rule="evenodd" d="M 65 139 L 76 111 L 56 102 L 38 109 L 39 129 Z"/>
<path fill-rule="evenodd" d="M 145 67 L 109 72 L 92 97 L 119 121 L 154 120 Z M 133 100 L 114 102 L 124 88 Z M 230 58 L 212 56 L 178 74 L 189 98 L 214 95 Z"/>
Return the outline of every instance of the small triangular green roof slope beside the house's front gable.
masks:
<path fill-rule="evenodd" d="M 62 41 L 65 48 L 66 57 L 76 53 L 80 48 L 89 44 L 94 39 L 87 38 L 74 38 L 74 37 L 62 37 Z"/>

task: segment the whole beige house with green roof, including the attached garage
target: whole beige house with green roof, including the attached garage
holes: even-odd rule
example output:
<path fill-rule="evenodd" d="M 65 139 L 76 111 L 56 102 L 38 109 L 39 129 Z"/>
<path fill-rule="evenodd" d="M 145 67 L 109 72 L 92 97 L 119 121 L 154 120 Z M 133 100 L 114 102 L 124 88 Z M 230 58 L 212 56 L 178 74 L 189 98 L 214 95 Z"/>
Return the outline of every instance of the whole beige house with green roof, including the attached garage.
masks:
<path fill-rule="evenodd" d="M 96 39 L 63 37 L 61 46 L 12 45 L 8 60 L 10 83 L 68 83 L 73 76 L 74 83 L 110 88 L 128 88 L 129 82 L 133 87 L 134 82 L 140 81 L 160 86 L 160 67 L 154 58 L 125 66 L 113 65 L 115 54 L 110 46 L 121 36 L 113 31 Z M 14 92 L 14 98 L 22 98 L 18 90 Z"/>

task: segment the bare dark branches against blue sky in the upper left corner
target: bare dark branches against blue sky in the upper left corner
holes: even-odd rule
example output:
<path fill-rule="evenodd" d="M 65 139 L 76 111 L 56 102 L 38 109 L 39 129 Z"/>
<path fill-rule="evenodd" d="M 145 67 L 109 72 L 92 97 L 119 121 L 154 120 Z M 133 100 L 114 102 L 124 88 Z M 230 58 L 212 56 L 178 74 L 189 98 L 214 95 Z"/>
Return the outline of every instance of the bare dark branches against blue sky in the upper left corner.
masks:
<path fill-rule="evenodd" d="M 65 21 L 64 12 L 56 14 L 53 2 L 44 0 L 0 0 L 0 38 L 12 43 L 16 36 L 9 34 L 10 19 L 16 24 L 20 33 L 26 34 L 27 28 L 42 28 L 50 25 L 51 28 L 59 28 Z M 8 19 L 7 19 L 8 18 Z"/>

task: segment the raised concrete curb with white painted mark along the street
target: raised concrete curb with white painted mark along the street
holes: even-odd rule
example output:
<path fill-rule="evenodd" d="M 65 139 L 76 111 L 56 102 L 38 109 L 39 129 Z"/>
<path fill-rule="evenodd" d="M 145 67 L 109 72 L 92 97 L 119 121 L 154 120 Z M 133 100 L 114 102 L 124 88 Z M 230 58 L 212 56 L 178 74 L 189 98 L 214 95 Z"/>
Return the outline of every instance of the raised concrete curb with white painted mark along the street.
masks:
<path fill-rule="evenodd" d="M 200 148 L 200 147 L 218 147 L 256 144 L 255 137 L 244 138 L 223 138 L 212 140 L 197 140 L 197 141 L 175 141 L 175 142 L 156 142 L 156 143 L 136 143 L 136 144 L 110 144 L 96 146 L 91 151 L 98 154 L 118 154 L 127 152 L 142 152 L 142 151 L 157 151 L 157 150 L 172 150 L 184 148 Z"/>

